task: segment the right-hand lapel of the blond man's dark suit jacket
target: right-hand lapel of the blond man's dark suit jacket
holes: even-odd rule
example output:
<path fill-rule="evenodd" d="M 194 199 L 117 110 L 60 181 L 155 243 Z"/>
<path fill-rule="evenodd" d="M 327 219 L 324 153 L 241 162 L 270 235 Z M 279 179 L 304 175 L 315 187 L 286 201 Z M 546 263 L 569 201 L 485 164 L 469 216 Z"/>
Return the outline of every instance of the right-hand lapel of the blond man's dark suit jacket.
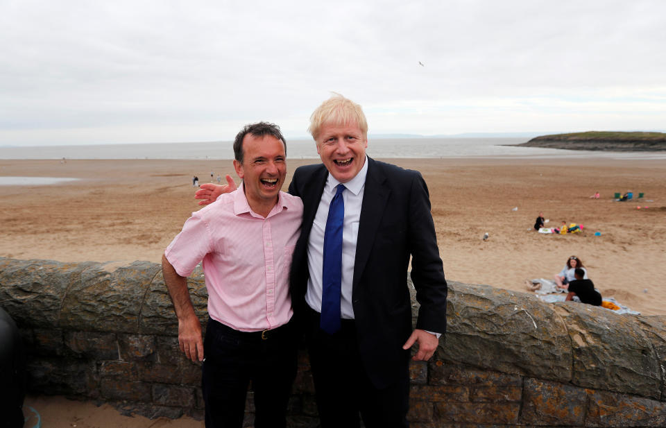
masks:
<path fill-rule="evenodd" d="M 361 203 L 361 219 L 356 243 L 352 288 L 356 288 L 361 279 L 361 274 L 366 262 L 368 262 L 368 257 L 370 257 L 370 250 L 372 250 L 375 243 L 377 230 L 382 223 L 388 196 L 391 194 L 391 190 L 384 185 L 385 181 L 384 171 L 375 160 L 368 157 L 368 175 L 366 176 L 363 202 Z"/>

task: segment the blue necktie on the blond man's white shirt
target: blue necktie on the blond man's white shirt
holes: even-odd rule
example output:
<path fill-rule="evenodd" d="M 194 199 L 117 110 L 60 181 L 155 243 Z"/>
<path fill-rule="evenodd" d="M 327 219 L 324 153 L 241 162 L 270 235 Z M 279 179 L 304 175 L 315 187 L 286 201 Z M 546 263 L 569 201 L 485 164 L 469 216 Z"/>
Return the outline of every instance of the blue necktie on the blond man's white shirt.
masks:
<path fill-rule="evenodd" d="M 342 286 L 342 229 L 345 219 L 345 185 L 337 185 L 328 208 L 324 231 L 323 291 L 319 326 L 328 334 L 340 329 L 340 292 Z"/>

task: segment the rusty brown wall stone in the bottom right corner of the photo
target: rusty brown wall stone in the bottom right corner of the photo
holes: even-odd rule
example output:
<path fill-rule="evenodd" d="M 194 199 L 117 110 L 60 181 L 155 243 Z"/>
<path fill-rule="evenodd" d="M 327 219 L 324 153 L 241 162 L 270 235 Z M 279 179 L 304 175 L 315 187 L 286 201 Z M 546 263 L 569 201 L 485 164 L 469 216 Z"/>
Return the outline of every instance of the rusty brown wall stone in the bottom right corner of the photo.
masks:
<path fill-rule="evenodd" d="M 590 391 L 588 427 L 666 427 L 666 402 Z"/>

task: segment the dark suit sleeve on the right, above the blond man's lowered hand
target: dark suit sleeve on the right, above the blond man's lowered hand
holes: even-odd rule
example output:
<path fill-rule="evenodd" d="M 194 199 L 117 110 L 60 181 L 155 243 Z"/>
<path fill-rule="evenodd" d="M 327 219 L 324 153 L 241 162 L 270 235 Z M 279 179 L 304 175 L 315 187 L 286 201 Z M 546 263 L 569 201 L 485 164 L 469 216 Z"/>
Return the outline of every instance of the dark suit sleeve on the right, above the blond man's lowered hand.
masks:
<path fill-rule="evenodd" d="M 420 304 L 416 328 L 444 334 L 447 284 L 430 212 L 428 188 L 418 172 L 411 182 L 409 197 L 409 252 L 411 280 Z"/>

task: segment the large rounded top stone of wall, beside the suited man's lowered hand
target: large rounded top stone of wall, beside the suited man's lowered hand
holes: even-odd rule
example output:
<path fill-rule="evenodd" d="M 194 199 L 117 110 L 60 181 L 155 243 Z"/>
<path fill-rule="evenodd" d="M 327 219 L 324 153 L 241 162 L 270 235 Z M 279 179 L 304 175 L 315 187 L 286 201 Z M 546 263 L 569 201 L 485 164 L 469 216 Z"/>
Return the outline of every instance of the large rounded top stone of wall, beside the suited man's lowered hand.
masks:
<path fill-rule="evenodd" d="M 436 359 L 568 382 L 571 341 L 551 305 L 535 296 L 449 282 L 445 345 Z"/>

